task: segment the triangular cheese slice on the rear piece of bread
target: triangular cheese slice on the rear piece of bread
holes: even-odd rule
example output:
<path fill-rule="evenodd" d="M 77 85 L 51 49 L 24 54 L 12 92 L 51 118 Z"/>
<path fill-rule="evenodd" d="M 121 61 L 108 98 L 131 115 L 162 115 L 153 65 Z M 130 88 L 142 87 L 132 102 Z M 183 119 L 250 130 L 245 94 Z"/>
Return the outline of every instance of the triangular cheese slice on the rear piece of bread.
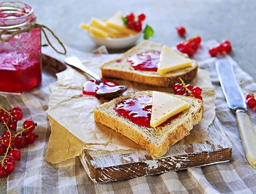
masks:
<path fill-rule="evenodd" d="M 191 59 L 187 59 L 177 51 L 174 51 L 167 46 L 163 46 L 160 54 L 157 73 L 159 75 L 163 75 L 167 72 L 190 66 L 192 66 Z"/>

